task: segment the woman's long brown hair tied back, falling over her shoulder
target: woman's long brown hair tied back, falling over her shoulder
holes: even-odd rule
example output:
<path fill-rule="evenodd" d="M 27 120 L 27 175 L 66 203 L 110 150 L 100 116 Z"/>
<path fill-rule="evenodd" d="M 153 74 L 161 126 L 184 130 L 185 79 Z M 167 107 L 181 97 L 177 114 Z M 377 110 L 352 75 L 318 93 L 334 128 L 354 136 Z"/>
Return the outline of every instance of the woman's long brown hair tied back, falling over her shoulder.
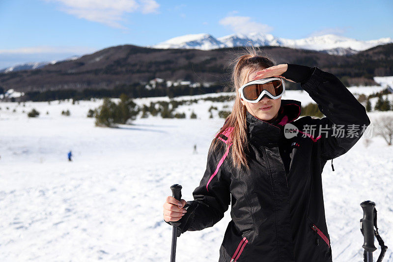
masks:
<path fill-rule="evenodd" d="M 262 70 L 275 65 L 272 58 L 268 55 L 260 54 L 262 51 L 255 49 L 253 46 L 245 47 L 245 51 L 236 54 L 236 57 L 231 60 L 232 76 L 231 76 L 231 89 L 235 92 L 236 96 L 232 112 L 226 117 L 223 127 L 217 132 L 216 137 L 213 139 L 212 148 L 215 148 L 220 143 L 220 135 L 229 128 L 233 128 L 228 137 L 226 146 L 232 146 L 231 158 L 236 168 L 240 169 L 242 166 L 248 168 L 247 151 L 248 151 L 248 138 L 247 138 L 247 124 L 246 124 L 246 107 L 240 102 L 238 89 L 247 83 L 248 76 L 255 70 Z M 222 144 L 221 144 L 222 145 Z"/>

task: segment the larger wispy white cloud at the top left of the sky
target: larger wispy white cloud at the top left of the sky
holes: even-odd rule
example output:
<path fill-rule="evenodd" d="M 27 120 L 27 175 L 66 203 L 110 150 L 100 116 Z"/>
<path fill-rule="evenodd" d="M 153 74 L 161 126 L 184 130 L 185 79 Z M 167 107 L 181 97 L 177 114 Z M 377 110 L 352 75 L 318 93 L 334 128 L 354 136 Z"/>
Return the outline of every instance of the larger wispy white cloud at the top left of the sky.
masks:
<path fill-rule="evenodd" d="M 113 28 L 125 27 L 125 13 L 157 13 L 160 5 L 155 0 L 45 0 L 57 2 L 60 10 L 78 18 L 105 24 Z"/>

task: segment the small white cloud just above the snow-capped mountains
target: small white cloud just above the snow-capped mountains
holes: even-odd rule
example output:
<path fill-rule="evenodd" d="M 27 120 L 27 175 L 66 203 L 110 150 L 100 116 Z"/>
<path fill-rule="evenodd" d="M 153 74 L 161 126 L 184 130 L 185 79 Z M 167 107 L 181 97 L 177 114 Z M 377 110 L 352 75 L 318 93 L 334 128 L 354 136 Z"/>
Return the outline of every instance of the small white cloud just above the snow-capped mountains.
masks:
<path fill-rule="evenodd" d="M 220 25 L 225 26 L 235 33 L 248 34 L 252 32 L 268 33 L 272 27 L 251 21 L 247 16 L 227 16 L 219 21 Z"/>

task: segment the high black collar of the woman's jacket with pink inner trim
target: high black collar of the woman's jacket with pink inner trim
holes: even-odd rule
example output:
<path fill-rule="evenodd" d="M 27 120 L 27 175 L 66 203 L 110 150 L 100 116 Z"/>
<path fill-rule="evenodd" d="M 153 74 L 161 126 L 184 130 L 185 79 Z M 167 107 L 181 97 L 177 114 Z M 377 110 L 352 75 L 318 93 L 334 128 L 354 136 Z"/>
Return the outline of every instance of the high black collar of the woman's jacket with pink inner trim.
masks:
<path fill-rule="evenodd" d="M 277 146 L 283 137 L 283 127 L 300 116 L 301 108 L 300 101 L 281 99 L 279 115 L 273 121 L 260 120 L 247 111 L 246 122 L 250 142 L 257 145 Z"/>

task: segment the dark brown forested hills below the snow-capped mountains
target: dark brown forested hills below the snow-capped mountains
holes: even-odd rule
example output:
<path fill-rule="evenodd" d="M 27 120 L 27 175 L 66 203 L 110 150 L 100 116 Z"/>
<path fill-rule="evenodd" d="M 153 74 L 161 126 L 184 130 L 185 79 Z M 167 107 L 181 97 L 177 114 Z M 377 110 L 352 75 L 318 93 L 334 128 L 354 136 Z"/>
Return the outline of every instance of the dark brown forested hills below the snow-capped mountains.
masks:
<path fill-rule="evenodd" d="M 345 85 L 371 85 L 375 84 L 373 76 L 393 75 L 393 44 L 376 46 L 352 56 L 286 47 L 268 46 L 262 47 L 262 50 L 277 64 L 318 66 L 339 77 Z M 114 46 L 40 69 L 1 73 L 0 87 L 22 92 L 81 91 L 135 86 L 135 83 L 148 83 L 154 78 L 225 86 L 230 78 L 229 62 L 241 51 L 241 48 L 202 51 Z"/>

